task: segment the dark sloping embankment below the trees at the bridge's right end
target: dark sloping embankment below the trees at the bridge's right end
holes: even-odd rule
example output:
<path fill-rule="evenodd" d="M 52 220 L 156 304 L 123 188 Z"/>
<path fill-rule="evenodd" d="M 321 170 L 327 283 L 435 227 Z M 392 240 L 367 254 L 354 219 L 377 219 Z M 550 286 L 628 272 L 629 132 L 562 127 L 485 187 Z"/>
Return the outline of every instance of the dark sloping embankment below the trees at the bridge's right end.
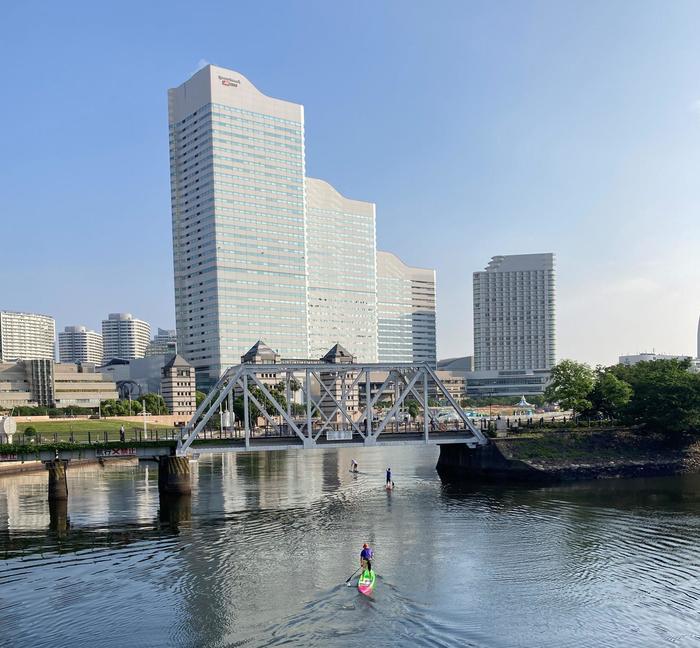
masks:
<path fill-rule="evenodd" d="M 616 428 L 492 439 L 479 448 L 440 446 L 451 481 L 557 482 L 700 472 L 700 442 Z"/>

